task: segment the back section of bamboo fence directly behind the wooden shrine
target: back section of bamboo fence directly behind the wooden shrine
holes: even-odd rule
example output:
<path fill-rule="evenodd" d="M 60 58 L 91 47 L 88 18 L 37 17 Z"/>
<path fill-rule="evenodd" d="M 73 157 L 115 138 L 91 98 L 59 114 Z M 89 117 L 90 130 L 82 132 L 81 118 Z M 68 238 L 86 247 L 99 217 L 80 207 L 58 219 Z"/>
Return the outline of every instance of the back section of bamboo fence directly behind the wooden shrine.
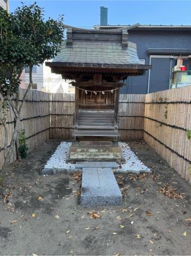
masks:
<path fill-rule="evenodd" d="M 121 140 L 143 138 L 144 97 L 122 94 L 119 98 L 119 133 Z M 51 94 L 50 138 L 72 138 L 74 94 Z"/>

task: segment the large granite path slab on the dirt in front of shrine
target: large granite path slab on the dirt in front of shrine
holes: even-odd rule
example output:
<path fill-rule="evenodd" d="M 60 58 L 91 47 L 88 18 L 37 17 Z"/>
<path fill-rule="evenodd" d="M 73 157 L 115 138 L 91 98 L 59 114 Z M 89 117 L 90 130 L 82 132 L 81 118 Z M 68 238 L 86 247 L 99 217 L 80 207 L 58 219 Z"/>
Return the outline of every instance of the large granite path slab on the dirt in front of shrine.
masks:
<path fill-rule="evenodd" d="M 82 168 L 82 206 L 118 206 L 122 194 L 112 168 Z"/>

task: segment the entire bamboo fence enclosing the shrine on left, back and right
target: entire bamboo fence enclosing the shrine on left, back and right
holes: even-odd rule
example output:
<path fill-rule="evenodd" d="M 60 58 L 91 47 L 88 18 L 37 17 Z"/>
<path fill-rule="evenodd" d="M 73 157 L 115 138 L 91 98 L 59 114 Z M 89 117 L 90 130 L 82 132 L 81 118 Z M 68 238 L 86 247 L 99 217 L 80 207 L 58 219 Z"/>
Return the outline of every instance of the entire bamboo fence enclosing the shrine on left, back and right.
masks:
<path fill-rule="evenodd" d="M 24 90 L 20 89 L 20 94 Z M 73 130 L 74 94 L 30 91 L 21 113 L 20 129 L 26 130 L 29 150 L 50 138 L 70 139 Z M 172 168 L 191 183 L 191 86 L 152 94 L 124 94 L 119 97 L 121 140 L 143 139 Z M 9 142 L 14 115 L 8 113 Z M 0 124 L 0 168 L 3 164 L 4 128 Z M 16 152 L 12 160 L 16 159 Z"/>

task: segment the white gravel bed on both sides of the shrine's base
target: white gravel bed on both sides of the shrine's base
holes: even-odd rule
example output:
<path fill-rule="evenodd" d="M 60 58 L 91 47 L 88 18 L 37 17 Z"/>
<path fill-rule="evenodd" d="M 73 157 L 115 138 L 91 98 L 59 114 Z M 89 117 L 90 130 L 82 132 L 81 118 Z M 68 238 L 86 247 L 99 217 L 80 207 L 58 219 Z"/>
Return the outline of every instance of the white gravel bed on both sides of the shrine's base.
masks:
<path fill-rule="evenodd" d="M 66 163 L 66 159 L 69 154 L 69 148 L 71 144 L 71 142 L 62 141 L 60 145 L 58 145 L 53 155 L 51 155 L 50 159 L 48 159 L 47 164 L 45 164 L 44 168 L 75 168 L 75 164 Z M 144 165 L 143 162 L 140 161 L 140 159 L 138 159 L 138 157 L 130 149 L 130 146 L 128 146 L 127 143 L 119 142 L 119 146 L 122 149 L 122 153 L 126 161 L 125 164 L 121 165 L 121 171 L 150 171 L 150 169 L 146 165 Z"/>

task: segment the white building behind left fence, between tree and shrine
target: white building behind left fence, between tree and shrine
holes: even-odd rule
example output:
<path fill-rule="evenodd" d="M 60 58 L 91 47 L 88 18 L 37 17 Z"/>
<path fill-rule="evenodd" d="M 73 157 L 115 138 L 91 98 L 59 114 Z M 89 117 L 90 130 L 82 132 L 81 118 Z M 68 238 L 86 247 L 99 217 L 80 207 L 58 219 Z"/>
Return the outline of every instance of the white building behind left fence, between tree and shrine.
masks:
<path fill-rule="evenodd" d="M 51 73 L 50 67 L 45 63 L 33 67 L 33 90 L 45 92 L 74 92 L 75 88 L 61 78 L 60 74 Z M 21 74 L 21 88 L 27 88 L 29 85 L 29 68 L 25 68 Z"/>

